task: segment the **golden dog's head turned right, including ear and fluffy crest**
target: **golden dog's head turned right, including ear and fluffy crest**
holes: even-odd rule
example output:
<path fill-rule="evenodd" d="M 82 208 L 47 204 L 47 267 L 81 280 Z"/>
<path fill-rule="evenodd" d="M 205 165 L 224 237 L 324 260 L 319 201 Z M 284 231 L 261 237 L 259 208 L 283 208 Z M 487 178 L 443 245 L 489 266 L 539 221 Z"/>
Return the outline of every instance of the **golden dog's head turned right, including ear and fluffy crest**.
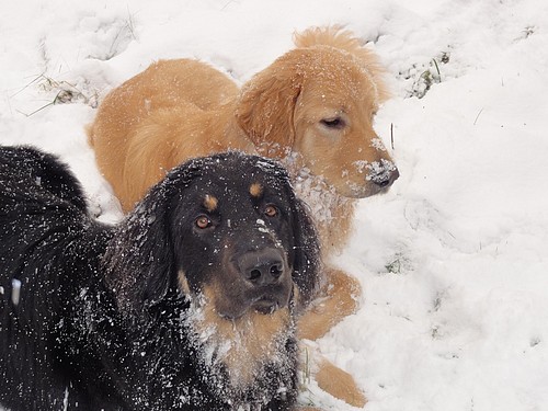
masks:
<path fill-rule="evenodd" d="M 310 28 L 242 89 L 237 119 L 259 151 L 297 156 L 346 197 L 386 191 L 399 176 L 374 115 L 387 98 L 376 57 L 349 32 Z"/>

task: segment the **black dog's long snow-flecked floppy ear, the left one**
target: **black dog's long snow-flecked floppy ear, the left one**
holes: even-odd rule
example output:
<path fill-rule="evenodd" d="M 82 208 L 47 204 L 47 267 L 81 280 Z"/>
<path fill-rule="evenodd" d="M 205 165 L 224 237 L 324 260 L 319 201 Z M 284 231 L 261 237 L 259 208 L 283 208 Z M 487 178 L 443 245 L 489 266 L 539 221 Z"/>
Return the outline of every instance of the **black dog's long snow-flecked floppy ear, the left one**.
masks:
<path fill-rule="evenodd" d="M 144 313 L 165 297 L 176 281 L 170 237 L 171 198 L 199 172 L 190 161 L 155 185 L 117 227 L 103 259 L 106 284 L 123 313 Z"/>

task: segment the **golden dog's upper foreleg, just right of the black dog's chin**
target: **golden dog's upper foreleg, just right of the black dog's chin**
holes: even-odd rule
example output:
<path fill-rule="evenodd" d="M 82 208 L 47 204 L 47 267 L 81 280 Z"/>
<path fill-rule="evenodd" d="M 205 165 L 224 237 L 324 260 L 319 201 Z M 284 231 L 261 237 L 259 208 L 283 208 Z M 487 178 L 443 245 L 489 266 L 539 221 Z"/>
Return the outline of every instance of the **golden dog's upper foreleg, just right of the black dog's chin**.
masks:
<path fill-rule="evenodd" d="M 319 298 L 299 319 L 299 339 L 319 339 L 357 308 L 356 297 L 362 292 L 359 283 L 341 270 L 327 267 L 326 271 L 327 283 Z"/>

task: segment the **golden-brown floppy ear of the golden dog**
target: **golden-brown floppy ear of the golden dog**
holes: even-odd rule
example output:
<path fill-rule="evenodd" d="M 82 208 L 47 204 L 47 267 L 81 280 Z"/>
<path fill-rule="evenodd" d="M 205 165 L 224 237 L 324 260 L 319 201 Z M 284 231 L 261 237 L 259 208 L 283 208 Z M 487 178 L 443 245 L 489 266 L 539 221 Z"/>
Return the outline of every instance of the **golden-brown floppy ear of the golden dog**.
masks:
<path fill-rule="evenodd" d="M 295 140 L 294 112 L 301 88 L 295 65 L 284 57 L 243 85 L 236 109 L 239 126 L 274 158 L 285 157 Z"/>

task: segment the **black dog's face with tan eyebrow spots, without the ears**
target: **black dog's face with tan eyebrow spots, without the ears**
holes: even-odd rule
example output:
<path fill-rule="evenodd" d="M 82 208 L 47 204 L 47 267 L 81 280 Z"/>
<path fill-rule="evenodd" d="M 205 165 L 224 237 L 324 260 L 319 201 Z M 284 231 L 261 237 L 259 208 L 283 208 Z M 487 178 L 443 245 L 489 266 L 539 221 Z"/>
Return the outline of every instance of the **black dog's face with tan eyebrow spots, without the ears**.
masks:
<path fill-rule="evenodd" d="M 173 246 L 185 293 L 228 321 L 288 308 L 297 239 L 283 180 L 247 161 L 208 167 L 174 204 Z"/>

